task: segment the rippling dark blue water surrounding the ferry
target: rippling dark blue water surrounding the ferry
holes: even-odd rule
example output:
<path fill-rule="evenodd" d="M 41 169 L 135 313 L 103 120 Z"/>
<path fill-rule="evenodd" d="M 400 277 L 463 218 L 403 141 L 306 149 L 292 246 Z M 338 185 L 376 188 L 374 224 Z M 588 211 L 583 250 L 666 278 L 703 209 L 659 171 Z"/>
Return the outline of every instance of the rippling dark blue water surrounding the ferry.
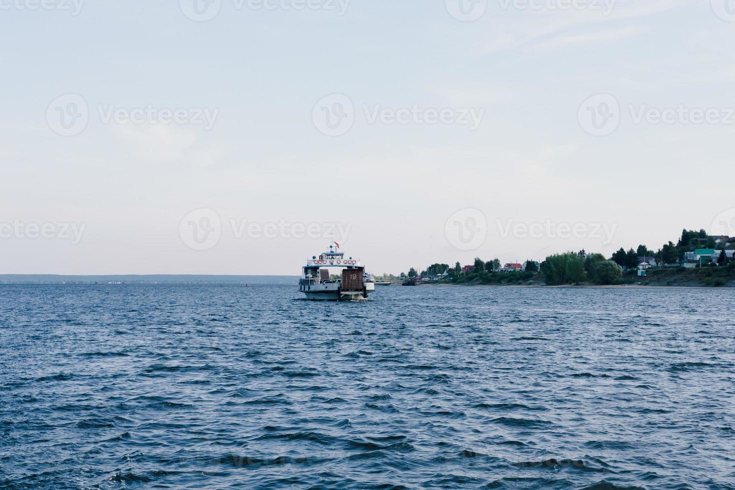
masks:
<path fill-rule="evenodd" d="M 734 298 L 0 286 L 0 487 L 734 489 Z"/>

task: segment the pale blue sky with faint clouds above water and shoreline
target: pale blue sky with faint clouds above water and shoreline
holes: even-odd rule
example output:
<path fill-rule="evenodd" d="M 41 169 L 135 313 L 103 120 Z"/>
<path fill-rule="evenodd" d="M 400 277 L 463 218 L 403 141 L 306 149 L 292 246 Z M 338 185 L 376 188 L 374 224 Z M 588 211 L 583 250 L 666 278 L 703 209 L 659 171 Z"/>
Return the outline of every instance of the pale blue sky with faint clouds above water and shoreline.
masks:
<path fill-rule="evenodd" d="M 735 234 L 734 0 L 212 1 L 0 0 L 0 273 Z"/>

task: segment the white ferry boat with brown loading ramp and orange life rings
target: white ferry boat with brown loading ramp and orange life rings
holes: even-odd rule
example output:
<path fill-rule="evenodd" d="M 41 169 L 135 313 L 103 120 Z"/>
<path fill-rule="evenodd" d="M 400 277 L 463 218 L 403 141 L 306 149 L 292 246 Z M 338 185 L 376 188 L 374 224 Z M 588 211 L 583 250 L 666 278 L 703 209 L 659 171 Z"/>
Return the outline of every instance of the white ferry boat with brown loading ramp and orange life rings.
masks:
<path fill-rule="evenodd" d="M 317 301 L 355 301 L 368 299 L 365 266 L 359 259 L 347 257 L 339 252 L 340 245 L 332 242 L 329 251 L 312 256 L 301 267 L 301 280 L 298 290 L 306 295 L 307 300 Z M 335 245 L 337 248 L 335 248 Z M 332 272 L 340 271 L 337 277 Z"/>

